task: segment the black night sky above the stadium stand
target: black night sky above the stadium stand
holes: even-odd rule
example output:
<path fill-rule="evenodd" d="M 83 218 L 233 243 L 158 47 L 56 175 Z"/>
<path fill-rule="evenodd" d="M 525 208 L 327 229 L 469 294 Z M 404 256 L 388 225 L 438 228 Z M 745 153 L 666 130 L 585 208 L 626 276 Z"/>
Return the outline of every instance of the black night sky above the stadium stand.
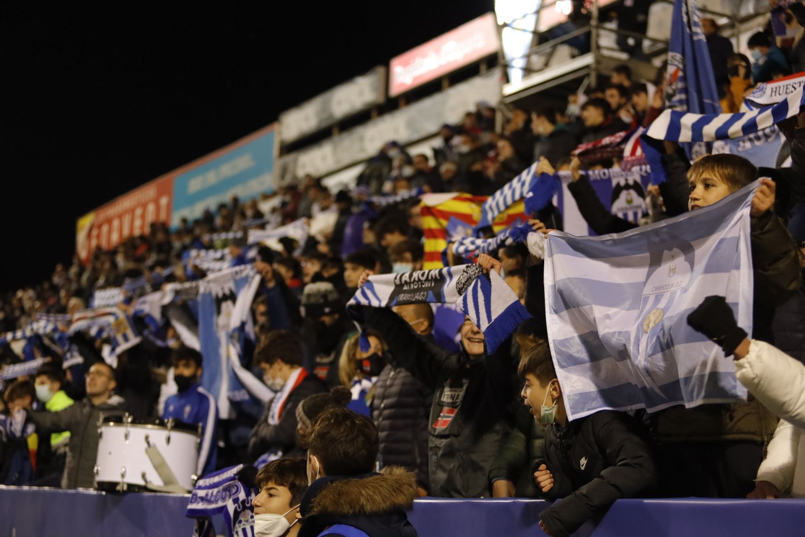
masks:
<path fill-rule="evenodd" d="M 0 289 L 69 262 L 82 214 L 490 10 L 492 0 L 4 5 Z"/>

